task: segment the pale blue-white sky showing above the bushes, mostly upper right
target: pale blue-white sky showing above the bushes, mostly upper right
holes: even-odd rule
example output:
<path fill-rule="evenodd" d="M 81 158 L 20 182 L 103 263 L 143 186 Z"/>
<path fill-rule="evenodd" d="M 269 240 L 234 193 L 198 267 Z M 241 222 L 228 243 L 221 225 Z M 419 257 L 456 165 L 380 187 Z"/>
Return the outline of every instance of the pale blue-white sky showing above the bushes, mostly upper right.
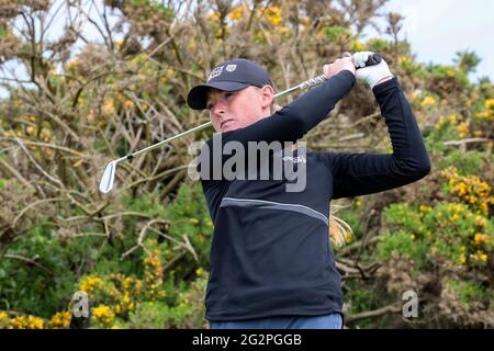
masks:
<path fill-rule="evenodd" d="M 419 63 L 452 65 L 457 52 L 473 50 L 482 61 L 470 78 L 487 76 L 494 81 L 494 1 L 390 0 L 385 11 L 405 16 L 400 38 L 411 42 Z M 368 37 L 375 35 L 367 31 Z M 0 88 L 0 98 L 5 97 Z"/>

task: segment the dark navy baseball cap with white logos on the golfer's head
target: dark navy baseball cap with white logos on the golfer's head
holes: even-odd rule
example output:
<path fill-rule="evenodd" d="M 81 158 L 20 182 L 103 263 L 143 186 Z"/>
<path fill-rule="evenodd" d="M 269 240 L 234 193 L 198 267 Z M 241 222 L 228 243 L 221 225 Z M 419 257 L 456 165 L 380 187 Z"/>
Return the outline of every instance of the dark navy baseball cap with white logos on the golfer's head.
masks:
<path fill-rule="evenodd" d="M 249 86 L 259 88 L 272 86 L 268 71 L 248 59 L 228 59 L 211 71 L 204 84 L 195 86 L 189 91 L 187 103 L 193 110 L 204 110 L 207 107 L 209 88 L 237 91 Z"/>

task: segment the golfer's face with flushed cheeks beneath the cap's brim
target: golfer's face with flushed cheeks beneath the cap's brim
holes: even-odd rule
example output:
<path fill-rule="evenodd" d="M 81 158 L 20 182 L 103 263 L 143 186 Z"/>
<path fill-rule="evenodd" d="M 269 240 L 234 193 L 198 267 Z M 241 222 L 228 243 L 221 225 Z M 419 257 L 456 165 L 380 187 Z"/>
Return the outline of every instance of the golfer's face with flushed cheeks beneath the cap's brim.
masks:
<path fill-rule="evenodd" d="M 206 106 L 218 133 L 246 127 L 270 115 L 272 88 L 247 87 L 238 91 L 210 89 Z"/>

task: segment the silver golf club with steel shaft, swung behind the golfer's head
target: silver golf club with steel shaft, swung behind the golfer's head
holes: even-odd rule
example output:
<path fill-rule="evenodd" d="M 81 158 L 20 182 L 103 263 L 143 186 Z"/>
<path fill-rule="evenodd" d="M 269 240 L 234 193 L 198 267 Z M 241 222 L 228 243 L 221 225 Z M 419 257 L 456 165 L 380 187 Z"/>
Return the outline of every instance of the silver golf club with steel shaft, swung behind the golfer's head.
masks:
<path fill-rule="evenodd" d="M 346 56 L 346 57 L 350 56 L 351 57 L 351 54 L 346 53 L 344 56 Z M 373 54 L 373 55 L 371 55 L 368 58 L 368 60 L 366 63 L 366 66 L 378 65 L 378 64 L 381 63 L 381 60 L 382 60 L 382 57 L 381 57 L 380 54 Z M 300 83 L 299 86 L 292 87 L 290 89 L 283 90 L 281 92 L 274 94 L 274 98 L 279 98 L 279 97 L 289 94 L 289 93 L 291 93 L 293 91 L 296 91 L 296 90 L 304 90 L 304 89 L 308 89 L 308 88 L 318 86 L 318 84 L 321 84 L 322 82 L 324 82 L 326 80 L 327 80 L 326 76 L 324 76 L 324 75 L 317 76 L 315 78 L 308 79 L 308 80 Z M 115 180 L 115 169 L 116 169 L 116 165 L 119 162 L 125 161 L 125 160 L 131 160 L 131 159 L 133 159 L 134 157 L 136 157 L 136 156 L 138 156 L 141 154 L 144 154 L 146 151 L 150 151 L 150 150 L 153 150 L 153 149 L 155 149 L 157 147 L 160 147 L 161 145 L 170 143 L 170 141 L 172 141 L 175 139 L 178 139 L 178 138 L 180 138 L 182 136 L 186 136 L 186 135 L 189 135 L 191 133 L 204 129 L 205 127 L 209 127 L 210 125 L 212 125 L 211 121 L 206 122 L 204 124 L 198 125 L 197 127 L 193 127 L 193 128 L 191 128 L 189 131 L 186 131 L 186 132 L 182 132 L 180 134 L 177 134 L 177 135 L 175 135 L 172 137 L 169 137 L 168 139 L 165 139 L 162 141 L 159 141 L 159 143 L 156 143 L 154 145 L 150 145 L 150 146 L 148 146 L 148 147 L 146 147 L 144 149 L 141 149 L 138 151 L 135 151 L 133 154 L 126 155 L 124 157 L 121 157 L 121 158 L 119 158 L 116 160 L 111 161 L 110 163 L 108 163 L 106 168 L 104 169 L 103 177 L 101 178 L 100 191 L 102 193 L 106 194 L 113 189 L 113 183 L 114 183 L 114 180 Z"/>

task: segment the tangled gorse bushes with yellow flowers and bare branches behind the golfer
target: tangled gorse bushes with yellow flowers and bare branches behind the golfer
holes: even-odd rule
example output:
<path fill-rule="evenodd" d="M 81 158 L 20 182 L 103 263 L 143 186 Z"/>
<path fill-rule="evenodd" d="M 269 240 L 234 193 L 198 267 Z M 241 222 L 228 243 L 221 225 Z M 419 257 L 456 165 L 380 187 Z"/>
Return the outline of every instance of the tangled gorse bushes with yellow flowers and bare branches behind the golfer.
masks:
<path fill-rule="evenodd" d="M 214 224 L 187 166 L 189 145 L 212 131 L 119 163 L 105 195 L 104 166 L 209 121 L 187 93 L 226 58 L 258 61 L 281 91 L 357 50 L 381 53 L 398 77 L 433 170 L 332 203 L 346 325 L 494 326 L 492 82 L 469 79 L 474 53 L 448 66 L 417 61 L 398 14 L 364 39 L 385 2 L 71 1 L 57 12 L 52 1 L 0 1 L 0 328 L 207 327 Z M 64 11 L 81 23 L 52 37 Z M 12 64 L 24 78 L 3 70 Z M 305 140 L 313 150 L 392 151 L 362 84 Z M 401 315 L 408 290 L 418 318 Z M 74 317 L 76 292 L 88 296 L 87 318 Z"/>

